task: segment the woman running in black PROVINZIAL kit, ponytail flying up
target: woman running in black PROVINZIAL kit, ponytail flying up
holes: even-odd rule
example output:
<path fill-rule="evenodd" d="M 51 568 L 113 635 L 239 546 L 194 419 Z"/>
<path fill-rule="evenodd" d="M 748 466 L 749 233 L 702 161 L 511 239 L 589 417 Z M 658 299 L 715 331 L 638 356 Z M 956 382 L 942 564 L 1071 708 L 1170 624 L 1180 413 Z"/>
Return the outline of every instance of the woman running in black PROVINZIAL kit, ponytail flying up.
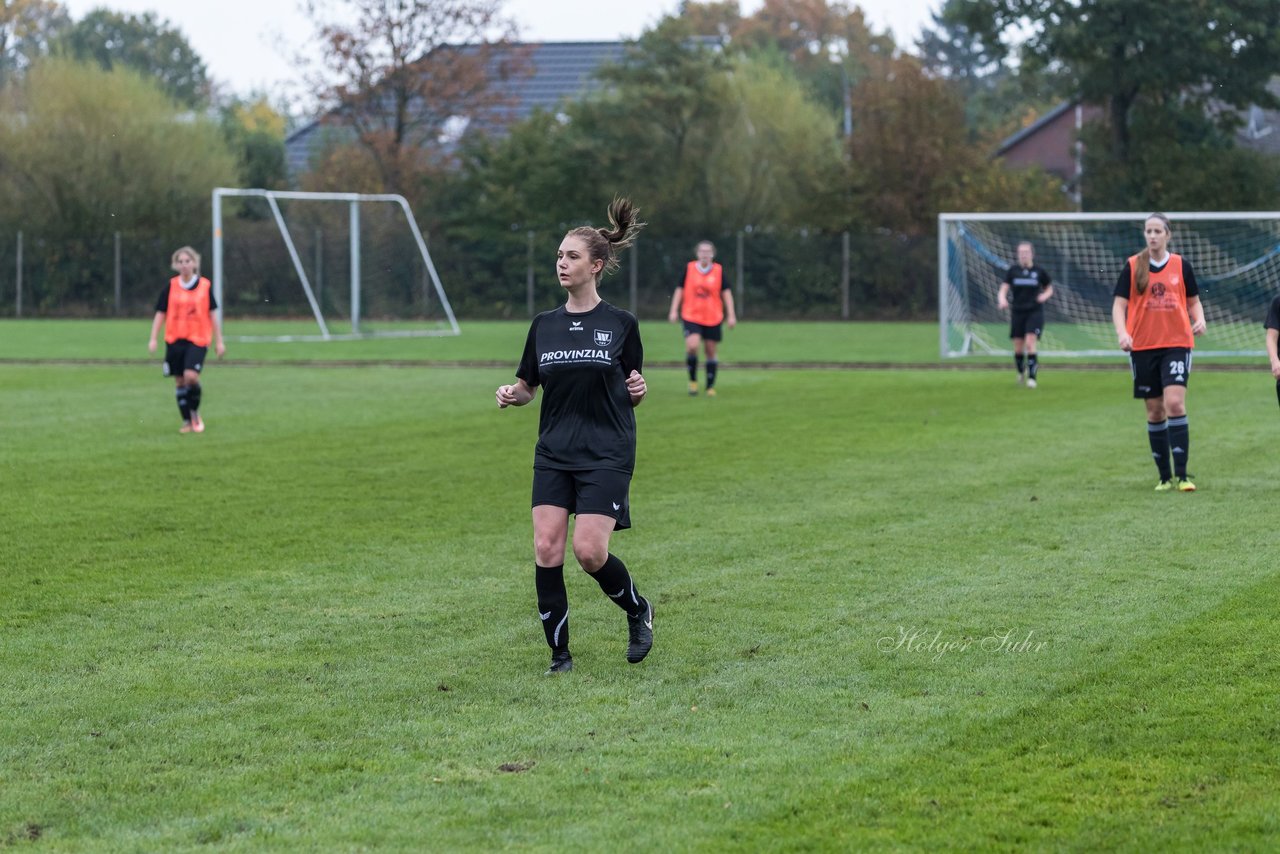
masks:
<path fill-rule="evenodd" d="M 627 567 L 609 553 L 614 530 L 631 528 L 628 490 L 636 420 L 646 388 L 636 319 L 599 294 L 600 277 L 617 269 L 618 251 L 644 225 L 621 198 L 612 228 L 575 228 L 561 241 L 556 271 L 567 300 L 534 318 L 512 385 L 499 385 L 499 408 L 524 406 L 544 389 L 534 451 L 534 553 L 538 616 L 552 648 L 548 673 L 573 668 L 568 649 L 564 545 L 573 513 L 573 557 L 627 615 L 627 661 L 653 647 L 653 606 Z"/>

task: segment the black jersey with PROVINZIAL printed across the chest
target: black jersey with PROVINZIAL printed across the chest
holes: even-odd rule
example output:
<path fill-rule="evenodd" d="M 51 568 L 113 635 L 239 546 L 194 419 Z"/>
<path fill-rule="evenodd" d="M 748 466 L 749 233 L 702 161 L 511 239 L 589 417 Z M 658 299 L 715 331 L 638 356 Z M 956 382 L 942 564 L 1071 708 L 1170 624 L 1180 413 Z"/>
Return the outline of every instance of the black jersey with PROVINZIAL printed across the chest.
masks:
<path fill-rule="evenodd" d="M 575 314 L 564 306 L 534 318 L 516 376 L 543 388 L 534 465 L 568 471 L 631 474 L 636 416 L 626 378 L 643 371 L 635 315 L 600 302 Z"/>

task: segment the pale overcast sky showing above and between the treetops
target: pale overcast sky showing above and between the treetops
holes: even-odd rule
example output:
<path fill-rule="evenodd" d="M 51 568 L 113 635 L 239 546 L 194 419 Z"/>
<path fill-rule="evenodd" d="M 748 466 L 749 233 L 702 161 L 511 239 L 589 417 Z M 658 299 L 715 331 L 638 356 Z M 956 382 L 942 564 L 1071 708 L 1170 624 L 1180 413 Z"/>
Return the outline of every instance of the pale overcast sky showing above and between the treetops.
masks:
<path fill-rule="evenodd" d="M 900 45 L 915 40 L 942 0 L 855 0 L 876 31 L 892 29 Z M 210 76 L 239 95 L 288 93 L 297 77 L 289 54 L 305 50 L 312 33 L 297 0 L 61 0 L 72 17 L 92 9 L 154 12 L 177 26 L 205 60 Z M 742 0 L 744 14 L 759 0 Z M 635 38 L 678 0 L 507 0 L 507 13 L 527 41 Z"/>

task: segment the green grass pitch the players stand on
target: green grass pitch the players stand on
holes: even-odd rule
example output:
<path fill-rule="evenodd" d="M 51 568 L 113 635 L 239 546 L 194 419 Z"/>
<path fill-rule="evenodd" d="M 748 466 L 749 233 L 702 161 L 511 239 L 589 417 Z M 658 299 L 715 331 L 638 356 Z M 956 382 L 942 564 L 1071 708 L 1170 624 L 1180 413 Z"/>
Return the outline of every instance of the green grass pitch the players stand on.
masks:
<path fill-rule="evenodd" d="M 145 320 L 86 328 L 96 353 L 36 325 L 41 357 L 118 338 L 138 364 L 0 364 L 0 848 L 1277 844 L 1265 365 L 1193 376 L 1201 489 L 1155 494 L 1123 362 L 1048 364 L 1034 392 L 1011 370 L 740 369 L 744 324 L 717 399 L 648 371 L 613 547 L 654 652 L 626 663 L 622 613 L 570 557 L 576 667 L 547 679 L 536 406 L 493 401 L 511 367 L 237 347 L 206 371 L 207 433 L 179 435 Z M 0 359 L 27 330 L 0 324 Z M 466 330 L 443 346 L 515 365 L 524 324 Z M 643 330 L 678 361 L 677 333 Z"/>

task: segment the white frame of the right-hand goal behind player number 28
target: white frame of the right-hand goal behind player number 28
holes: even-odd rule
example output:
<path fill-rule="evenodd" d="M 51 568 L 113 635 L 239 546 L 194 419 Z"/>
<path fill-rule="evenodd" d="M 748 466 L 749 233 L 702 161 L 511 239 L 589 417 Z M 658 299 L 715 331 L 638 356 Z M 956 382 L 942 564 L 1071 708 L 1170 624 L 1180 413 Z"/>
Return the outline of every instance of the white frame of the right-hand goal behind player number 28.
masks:
<path fill-rule="evenodd" d="M 948 213 L 938 214 L 938 353 L 946 359 L 957 359 L 973 355 L 974 335 L 972 332 L 973 319 L 968 306 L 960 300 L 957 288 L 952 287 L 948 270 L 948 238 L 951 227 L 956 223 L 1088 223 L 1088 222 L 1132 222 L 1135 225 L 1143 223 L 1149 216 L 1149 211 L 1106 211 L 1106 213 Z M 1179 223 L 1194 222 L 1230 222 L 1230 220 L 1280 220 L 1280 211 L 1170 211 L 1165 214 L 1174 224 L 1175 239 Z M 1134 246 L 1134 252 L 1140 250 L 1140 245 Z M 1277 247 L 1280 248 L 1280 247 Z M 1247 266 L 1254 266 L 1253 264 Z M 1111 275 L 1117 271 L 1111 271 Z M 1110 316 L 1107 318 L 1110 323 Z M 966 328 L 963 343 L 959 350 L 950 346 L 948 329 Z M 1258 329 L 1262 328 L 1262 319 L 1258 318 Z M 1261 339 L 1261 332 L 1260 332 Z M 987 352 L 987 351 L 983 351 Z M 1011 350 L 1007 352 L 1012 352 Z M 1042 352 L 1043 348 L 1042 348 Z M 1006 355 L 1004 350 L 989 351 L 988 355 Z M 1119 356 L 1120 350 L 1073 350 L 1060 351 L 1051 355 L 1078 357 L 1078 356 Z M 1197 356 L 1260 356 L 1266 351 L 1258 350 L 1217 350 L 1196 351 Z"/>

